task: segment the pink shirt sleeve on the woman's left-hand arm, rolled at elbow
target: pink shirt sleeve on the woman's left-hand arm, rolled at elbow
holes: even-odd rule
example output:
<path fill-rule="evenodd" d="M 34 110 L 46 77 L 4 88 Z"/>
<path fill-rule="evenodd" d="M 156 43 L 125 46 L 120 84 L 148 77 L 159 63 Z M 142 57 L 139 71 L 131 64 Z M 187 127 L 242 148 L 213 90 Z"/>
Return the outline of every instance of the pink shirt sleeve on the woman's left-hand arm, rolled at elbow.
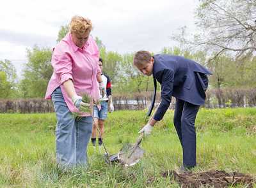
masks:
<path fill-rule="evenodd" d="M 60 85 L 72 77 L 72 61 L 68 55 L 52 55 L 52 67 L 56 73 Z"/>

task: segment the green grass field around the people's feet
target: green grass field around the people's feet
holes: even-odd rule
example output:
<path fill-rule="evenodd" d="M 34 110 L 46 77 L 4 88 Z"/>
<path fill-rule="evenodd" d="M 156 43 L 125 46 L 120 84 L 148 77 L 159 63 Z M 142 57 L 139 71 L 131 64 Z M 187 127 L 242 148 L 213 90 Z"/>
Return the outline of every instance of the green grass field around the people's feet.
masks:
<path fill-rule="evenodd" d="M 140 163 L 108 166 L 102 154 L 88 147 L 88 170 L 63 171 L 56 166 L 56 116 L 0 114 L 0 187 L 179 187 L 161 173 L 182 164 L 182 150 L 173 127 L 173 111 L 154 127 L 141 147 Z M 134 143 L 147 119 L 143 111 L 109 114 L 104 143 L 114 154 Z M 210 169 L 256 175 L 256 108 L 200 109 L 196 119 L 195 171 Z"/>

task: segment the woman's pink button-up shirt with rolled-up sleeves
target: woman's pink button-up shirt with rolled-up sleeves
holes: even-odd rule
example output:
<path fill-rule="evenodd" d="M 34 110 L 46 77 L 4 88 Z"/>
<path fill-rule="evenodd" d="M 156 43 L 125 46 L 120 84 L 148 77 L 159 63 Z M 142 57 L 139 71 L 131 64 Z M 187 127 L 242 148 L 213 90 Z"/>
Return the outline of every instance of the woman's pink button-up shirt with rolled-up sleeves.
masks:
<path fill-rule="evenodd" d="M 48 83 L 45 99 L 51 99 L 52 92 L 60 86 L 70 112 L 79 112 L 63 87 L 63 83 L 69 79 L 73 81 L 78 96 L 86 92 L 93 98 L 99 99 L 96 76 L 101 72 L 98 62 L 99 48 L 92 36 L 89 36 L 83 48 L 79 48 L 68 33 L 54 48 L 51 61 L 54 71 Z M 90 116 L 89 113 L 81 115 Z"/>

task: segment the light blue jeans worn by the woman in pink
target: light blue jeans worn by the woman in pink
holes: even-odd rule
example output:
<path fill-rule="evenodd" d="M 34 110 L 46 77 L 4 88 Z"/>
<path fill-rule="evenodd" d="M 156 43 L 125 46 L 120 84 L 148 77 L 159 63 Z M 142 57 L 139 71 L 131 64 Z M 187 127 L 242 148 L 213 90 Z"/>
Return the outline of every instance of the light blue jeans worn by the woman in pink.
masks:
<path fill-rule="evenodd" d="M 68 109 L 60 87 L 52 92 L 57 117 L 56 158 L 61 166 L 87 165 L 87 145 L 92 134 L 92 116 L 76 121 Z"/>

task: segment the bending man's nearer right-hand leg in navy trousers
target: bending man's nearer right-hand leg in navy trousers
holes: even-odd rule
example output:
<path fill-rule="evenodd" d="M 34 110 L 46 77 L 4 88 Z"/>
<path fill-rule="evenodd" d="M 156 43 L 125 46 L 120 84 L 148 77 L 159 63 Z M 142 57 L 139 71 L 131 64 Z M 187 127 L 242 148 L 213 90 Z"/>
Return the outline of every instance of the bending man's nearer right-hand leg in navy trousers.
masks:
<path fill-rule="evenodd" d="M 195 120 L 198 105 L 185 102 L 181 117 L 183 165 L 186 168 L 196 166 Z"/>

